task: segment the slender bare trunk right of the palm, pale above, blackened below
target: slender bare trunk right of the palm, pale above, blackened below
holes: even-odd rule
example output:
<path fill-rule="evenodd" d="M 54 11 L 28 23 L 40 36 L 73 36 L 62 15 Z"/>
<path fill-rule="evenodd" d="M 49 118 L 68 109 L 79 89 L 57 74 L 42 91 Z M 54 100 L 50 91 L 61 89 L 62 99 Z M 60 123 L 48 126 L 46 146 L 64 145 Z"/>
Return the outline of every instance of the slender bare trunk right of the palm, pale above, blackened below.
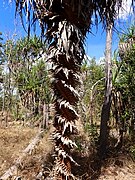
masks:
<path fill-rule="evenodd" d="M 107 123 L 110 118 L 111 96 L 112 96 L 112 71 L 111 71 L 111 51 L 112 51 L 112 25 L 108 25 L 106 29 L 106 52 L 105 52 L 105 97 L 101 112 L 100 125 L 100 156 L 106 156 L 108 128 Z"/>

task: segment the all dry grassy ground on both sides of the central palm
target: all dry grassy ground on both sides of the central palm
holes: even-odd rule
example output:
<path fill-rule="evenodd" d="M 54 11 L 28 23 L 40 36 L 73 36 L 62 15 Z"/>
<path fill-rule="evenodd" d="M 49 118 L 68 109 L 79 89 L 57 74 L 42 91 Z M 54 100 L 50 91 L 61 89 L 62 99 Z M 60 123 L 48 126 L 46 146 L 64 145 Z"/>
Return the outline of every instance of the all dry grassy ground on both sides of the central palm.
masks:
<path fill-rule="evenodd" d="M 21 152 L 28 146 L 38 133 L 39 128 L 24 127 L 13 124 L 0 127 L 0 176 L 11 167 Z M 26 155 L 18 167 L 18 176 L 22 180 L 34 180 L 44 168 L 48 174 L 53 166 L 53 143 L 50 140 L 52 128 L 44 133 L 43 139 L 32 154 Z M 81 147 L 73 154 L 80 164 L 73 171 L 79 180 L 135 180 L 135 163 L 125 152 L 109 156 L 103 163 L 96 158 L 94 148 L 88 142 L 89 138 L 81 130 L 77 143 Z M 44 166 L 44 167 L 43 167 Z M 11 178 L 14 179 L 14 178 Z"/>

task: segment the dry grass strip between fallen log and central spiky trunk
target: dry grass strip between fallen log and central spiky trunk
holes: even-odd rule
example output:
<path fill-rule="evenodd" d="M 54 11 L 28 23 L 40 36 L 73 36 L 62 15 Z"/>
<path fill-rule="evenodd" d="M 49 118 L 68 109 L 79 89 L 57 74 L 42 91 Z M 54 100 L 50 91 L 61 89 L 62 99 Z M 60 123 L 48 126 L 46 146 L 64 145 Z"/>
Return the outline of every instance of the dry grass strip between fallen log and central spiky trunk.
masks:
<path fill-rule="evenodd" d="M 52 128 L 45 133 L 34 153 L 23 160 L 22 168 L 19 169 L 19 174 L 23 180 L 36 179 L 35 177 L 42 170 L 42 166 L 48 167 L 50 161 L 52 161 L 53 144 L 50 141 L 51 132 Z"/>

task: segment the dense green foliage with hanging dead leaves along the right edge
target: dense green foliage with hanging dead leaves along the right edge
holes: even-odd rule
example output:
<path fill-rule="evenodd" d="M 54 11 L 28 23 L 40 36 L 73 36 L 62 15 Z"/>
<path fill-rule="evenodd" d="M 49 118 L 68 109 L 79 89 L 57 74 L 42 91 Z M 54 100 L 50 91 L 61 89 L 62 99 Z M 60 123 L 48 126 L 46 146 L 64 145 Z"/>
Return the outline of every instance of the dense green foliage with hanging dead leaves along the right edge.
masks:
<path fill-rule="evenodd" d="M 117 116 L 123 124 L 123 130 L 129 129 L 129 133 L 134 133 L 135 123 L 135 26 L 127 29 L 127 33 L 122 36 L 120 43 L 123 43 L 123 54 L 115 57 L 113 61 L 113 89 L 117 96 Z M 125 48 L 126 47 L 126 48 Z M 120 122 L 119 122 L 120 123 Z"/>

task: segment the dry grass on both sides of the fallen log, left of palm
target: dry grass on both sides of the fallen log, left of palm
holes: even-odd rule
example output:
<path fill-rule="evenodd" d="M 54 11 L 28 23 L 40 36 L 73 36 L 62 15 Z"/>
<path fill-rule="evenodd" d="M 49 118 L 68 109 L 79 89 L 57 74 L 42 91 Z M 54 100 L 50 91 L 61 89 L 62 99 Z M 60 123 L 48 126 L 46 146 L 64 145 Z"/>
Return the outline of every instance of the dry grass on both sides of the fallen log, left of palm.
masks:
<path fill-rule="evenodd" d="M 14 164 L 38 131 L 37 128 L 22 126 L 0 127 L 0 176 Z M 50 131 L 45 134 L 32 155 L 27 155 L 21 162 L 18 173 L 24 180 L 30 180 L 40 171 L 43 157 L 51 152 L 52 143 L 49 141 L 49 134 Z"/>

